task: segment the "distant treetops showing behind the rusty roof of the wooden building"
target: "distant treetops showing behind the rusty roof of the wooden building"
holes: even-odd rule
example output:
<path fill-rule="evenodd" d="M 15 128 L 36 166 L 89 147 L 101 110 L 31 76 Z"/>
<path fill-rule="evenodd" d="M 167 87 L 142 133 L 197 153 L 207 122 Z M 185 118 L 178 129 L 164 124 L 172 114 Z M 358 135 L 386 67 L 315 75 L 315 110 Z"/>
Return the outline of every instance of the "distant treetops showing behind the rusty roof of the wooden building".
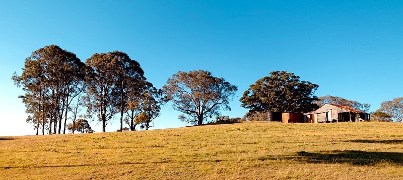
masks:
<path fill-rule="evenodd" d="M 335 105 L 342 105 L 342 106 L 347 106 L 359 111 L 364 111 L 364 112 L 368 112 L 369 108 L 371 107 L 370 104 L 364 103 L 361 104 L 357 101 L 352 101 L 352 100 L 346 100 L 344 98 L 340 98 L 337 96 L 322 96 L 319 97 L 318 101 L 315 101 L 316 104 L 318 104 L 319 106 L 322 106 L 326 103 L 329 104 L 335 104 Z"/>

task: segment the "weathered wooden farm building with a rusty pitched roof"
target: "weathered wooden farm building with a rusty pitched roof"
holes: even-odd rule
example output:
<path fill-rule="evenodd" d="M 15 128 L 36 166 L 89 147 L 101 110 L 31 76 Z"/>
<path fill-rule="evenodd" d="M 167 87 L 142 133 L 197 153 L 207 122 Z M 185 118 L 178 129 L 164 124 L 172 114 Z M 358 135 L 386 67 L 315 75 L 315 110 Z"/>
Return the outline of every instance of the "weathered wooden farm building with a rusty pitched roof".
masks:
<path fill-rule="evenodd" d="M 333 123 L 369 120 L 369 114 L 347 106 L 324 104 L 316 111 L 304 113 L 305 122 Z"/>

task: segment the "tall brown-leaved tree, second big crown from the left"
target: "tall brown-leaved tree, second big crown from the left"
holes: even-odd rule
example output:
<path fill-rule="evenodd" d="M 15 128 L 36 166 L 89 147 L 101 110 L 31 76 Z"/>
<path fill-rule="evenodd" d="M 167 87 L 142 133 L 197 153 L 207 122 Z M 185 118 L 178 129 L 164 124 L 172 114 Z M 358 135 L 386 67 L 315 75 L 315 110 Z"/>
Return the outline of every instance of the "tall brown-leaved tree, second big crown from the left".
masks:
<path fill-rule="evenodd" d="M 102 132 L 105 132 L 109 120 L 120 112 L 121 130 L 127 95 L 139 91 L 145 80 L 143 69 L 137 61 L 119 51 L 95 53 L 86 64 L 93 70 L 87 88 L 88 114 L 98 116 Z"/>

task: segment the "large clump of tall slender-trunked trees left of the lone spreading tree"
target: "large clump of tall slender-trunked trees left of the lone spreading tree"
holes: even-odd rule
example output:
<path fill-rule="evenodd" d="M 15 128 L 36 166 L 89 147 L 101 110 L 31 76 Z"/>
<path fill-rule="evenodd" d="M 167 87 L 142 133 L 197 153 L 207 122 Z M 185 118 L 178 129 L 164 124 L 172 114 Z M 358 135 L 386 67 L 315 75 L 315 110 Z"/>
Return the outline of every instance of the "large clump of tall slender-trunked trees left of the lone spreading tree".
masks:
<path fill-rule="evenodd" d="M 105 132 L 118 113 L 120 131 L 124 114 L 131 130 L 138 124 L 148 129 L 167 102 L 163 92 L 146 80 L 140 64 L 119 51 L 95 53 L 83 63 L 72 52 L 45 46 L 32 52 L 22 74 L 15 72 L 12 79 L 25 92 L 19 98 L 36 134 L 39 129 L 42 134 L 64 134 L 66 128 L 72 133 L 93 132 L 88 121 L 76 121 L 80 117 L 97 119 Z M 83 107 L 87 108 L 84 115 Z M 66 126 L 68 119 L 73 122 Z"/>

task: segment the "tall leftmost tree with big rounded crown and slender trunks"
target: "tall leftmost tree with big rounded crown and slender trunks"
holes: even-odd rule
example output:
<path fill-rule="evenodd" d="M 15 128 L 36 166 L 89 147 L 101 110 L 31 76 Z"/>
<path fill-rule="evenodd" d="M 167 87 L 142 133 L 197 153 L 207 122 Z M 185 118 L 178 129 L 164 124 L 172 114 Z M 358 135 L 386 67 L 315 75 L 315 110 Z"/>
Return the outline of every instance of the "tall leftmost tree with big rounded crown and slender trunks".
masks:
<path fill-rule="evenodd" d="M 26 58 L 21 76 L 14 74 L 15 83 L 22 85 L 26 92 L 24 97 L 35 96 L 36 98 L 30 100 L 46 102 L 46 109 L 45 104 L 41 103 L 41 109 L 46 112 L 42 112 L 39 117 L 42 117 L 44 122 L 45 115 L 49 116 L 49 134 L 52 133 L 52 123 L 53 133 L 56 133 L 57 122 L 60 134 L 61 121 L 66 117 L 69 107 L 69 98 L 76 93 L 72 88 L 76 88 L 76 84 L 85 76 L 82 73 L 83 68 L 84 63 L 74 53 L 50 45 L 32 52 L 31 56 Z"/>

